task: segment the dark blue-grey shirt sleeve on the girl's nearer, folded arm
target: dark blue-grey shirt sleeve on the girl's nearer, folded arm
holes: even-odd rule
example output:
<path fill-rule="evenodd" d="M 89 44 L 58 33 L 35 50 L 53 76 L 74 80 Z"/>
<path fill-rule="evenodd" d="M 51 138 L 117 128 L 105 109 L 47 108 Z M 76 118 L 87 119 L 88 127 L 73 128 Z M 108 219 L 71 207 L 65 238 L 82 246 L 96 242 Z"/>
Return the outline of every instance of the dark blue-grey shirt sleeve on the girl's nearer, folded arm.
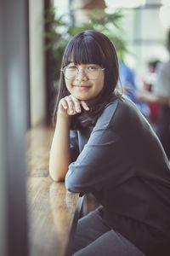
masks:
<path fill-rule="evenodd" d="M 82 153 L 69 166 L 66 189 L 83 195 L 122 183 L 130 175 L 124 172 L 123 157 L 123 144 L 113 129 L 94 128 Z"/>

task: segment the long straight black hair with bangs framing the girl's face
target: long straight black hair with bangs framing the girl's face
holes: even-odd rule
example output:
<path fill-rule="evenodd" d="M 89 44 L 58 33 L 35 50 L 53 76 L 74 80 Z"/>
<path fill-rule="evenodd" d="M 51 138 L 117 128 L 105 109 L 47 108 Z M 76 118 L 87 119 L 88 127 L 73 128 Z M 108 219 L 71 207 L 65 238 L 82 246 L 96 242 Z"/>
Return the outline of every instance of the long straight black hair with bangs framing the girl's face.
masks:
<path fill-rule="evenodd" d="M 61 69 L 70 62 L 75 64 L 97 64 L 105 68 L 105 80 L 103 90 L 100 91 L 94 106 L 90 106 L 90 111 L 84 111 L 72 116 L 71 130 L 78 129 L 80 126 L 95 125 L 99 115 L 103 112 L 105 105 L 111 102 L 116 96 L 115 89 L 119 78 L 119 65 L 116 49 L 103 33 L 94 30 L 79 32 L 65 48 Z M 54 108 L 54 123 L 59 101 L 65 96 L 70 95 L 65 85 L 64 74 L 60 73 L 59 94 Z"/>

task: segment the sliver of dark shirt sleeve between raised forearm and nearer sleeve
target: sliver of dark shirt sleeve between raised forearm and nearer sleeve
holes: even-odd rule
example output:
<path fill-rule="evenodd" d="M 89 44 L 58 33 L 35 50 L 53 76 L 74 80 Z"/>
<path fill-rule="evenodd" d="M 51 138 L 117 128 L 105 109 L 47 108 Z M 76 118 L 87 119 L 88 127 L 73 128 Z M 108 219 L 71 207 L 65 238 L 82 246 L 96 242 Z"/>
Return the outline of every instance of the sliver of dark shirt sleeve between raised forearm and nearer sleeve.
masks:
<path fill-rule="evenodd" d="M 79 154 L 77 131 L 70 131 L 71 162 L 77 160 Z"/>

